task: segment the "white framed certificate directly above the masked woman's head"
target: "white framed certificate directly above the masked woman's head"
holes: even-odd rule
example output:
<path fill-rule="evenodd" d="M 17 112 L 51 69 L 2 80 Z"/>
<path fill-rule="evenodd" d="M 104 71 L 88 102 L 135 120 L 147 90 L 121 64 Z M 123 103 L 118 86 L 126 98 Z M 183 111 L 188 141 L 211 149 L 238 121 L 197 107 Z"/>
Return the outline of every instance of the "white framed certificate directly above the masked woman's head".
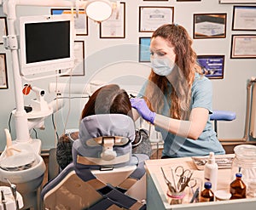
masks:
<path fill-rule="evenodd" d="M 153 32 L 163 24 L 173 23 L 174 7 L 139 7 L 139 32 Z"/>

